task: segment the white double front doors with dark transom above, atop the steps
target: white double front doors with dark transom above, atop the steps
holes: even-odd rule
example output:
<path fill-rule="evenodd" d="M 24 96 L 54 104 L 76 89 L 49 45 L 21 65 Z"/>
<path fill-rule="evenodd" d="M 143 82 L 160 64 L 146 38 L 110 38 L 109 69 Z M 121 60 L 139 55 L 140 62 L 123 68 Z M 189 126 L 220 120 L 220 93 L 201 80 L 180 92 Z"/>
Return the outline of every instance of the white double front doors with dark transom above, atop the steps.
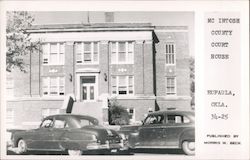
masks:
<path fill-rule="evenodd" d="M 96 76 L 81 76 L 80 100 L 94 101 L 96 100 L 96 95 L 97 95 Z"/>

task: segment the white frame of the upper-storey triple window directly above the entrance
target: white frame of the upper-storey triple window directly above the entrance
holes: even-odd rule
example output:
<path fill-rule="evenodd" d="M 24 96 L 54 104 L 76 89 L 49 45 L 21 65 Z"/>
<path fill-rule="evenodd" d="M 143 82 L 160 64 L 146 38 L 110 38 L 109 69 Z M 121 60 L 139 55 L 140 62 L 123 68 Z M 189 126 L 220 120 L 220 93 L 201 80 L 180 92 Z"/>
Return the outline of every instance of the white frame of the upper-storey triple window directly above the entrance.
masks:
<path fill-rule="evenodd" d="M 90 43 L 90 54 L 91 54 L 91 61 L 90 63 L 84 62 L 84 44 Z M 94 43 L 97 43 L 97 61 L 94 61 Z M 86 42 L 76 42 L 74 45 L 80 44 L 81 45 L 81 63 L 77 63 L 77 59 L 75 59 L 75 63 L 77 65 L 91 65 L 91 64 L 99 64 L 99 59 L 100 59 L 100 43 L 98 41 L 86 41 Z M 75 47 L 75 46 L 74 46 Z M 77 54 L 76 51 L 74 53 L 75 55 Z"/>

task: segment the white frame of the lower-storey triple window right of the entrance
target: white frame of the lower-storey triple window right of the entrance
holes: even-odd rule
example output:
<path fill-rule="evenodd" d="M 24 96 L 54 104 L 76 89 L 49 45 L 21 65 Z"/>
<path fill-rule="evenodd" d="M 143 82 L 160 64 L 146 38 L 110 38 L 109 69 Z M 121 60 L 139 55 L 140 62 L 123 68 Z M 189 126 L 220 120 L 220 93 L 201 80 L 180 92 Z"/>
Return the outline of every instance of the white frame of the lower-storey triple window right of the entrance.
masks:
<path fill-rule="evenodd" d="M 126 77 L 126 93 L 127 94 L 119 94 L 119 81 L 120 77 Z M 134 76 L 131 75 L 119 75 L 119 76 L 111 76 L 111 77 L 116 77 L 116 94 L 112 92 L 112 82 L 111 82 L 111 95 L 116 95 L 116 96 L 128 96 L 128 95 L 134 95 L 135 93 L 135 83 L 134 83 Z M 129 77 L 132 77 L 132 85 L 133 85 L 133 93 L 129 93 Z"/>

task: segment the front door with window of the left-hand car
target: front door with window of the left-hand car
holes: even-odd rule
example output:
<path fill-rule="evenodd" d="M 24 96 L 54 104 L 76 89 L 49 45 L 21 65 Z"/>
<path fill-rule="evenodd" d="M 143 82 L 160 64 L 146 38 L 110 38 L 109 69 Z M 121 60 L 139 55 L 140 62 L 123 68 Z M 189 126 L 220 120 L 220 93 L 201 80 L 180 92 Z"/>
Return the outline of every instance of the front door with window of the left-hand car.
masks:
<path fill-rule="evenodd" d="M 44 119 L 38 129 L 33 130 L 29 148 L 34 150 L 53 149 L 53 118 Z"/>

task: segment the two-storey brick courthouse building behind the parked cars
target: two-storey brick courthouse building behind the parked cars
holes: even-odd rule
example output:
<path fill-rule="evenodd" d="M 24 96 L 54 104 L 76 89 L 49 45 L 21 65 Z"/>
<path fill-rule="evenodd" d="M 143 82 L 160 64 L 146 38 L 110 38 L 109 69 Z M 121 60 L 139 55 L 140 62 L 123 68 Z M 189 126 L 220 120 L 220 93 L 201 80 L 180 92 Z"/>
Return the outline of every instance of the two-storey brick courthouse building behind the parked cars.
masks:
<path fill-rule="evenodd" d="M 110 99 L 128 110 L 131 123 L 149 111 L 191 109 L 186 26 L 106 22 L 27 32 L 43 42 L 42 51 L 24 56 L 26 73 L 7 73 L 8 128 L 31 128 L 65 112 L 105 123 Z"/>

